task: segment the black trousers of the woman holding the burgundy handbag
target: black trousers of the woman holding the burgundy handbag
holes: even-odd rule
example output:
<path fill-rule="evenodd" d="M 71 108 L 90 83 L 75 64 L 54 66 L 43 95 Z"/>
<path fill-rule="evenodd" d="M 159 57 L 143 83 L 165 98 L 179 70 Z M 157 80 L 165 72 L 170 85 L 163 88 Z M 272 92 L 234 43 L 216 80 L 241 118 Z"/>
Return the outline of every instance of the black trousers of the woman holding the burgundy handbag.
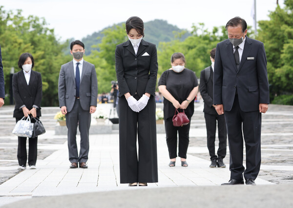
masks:
<path fill-rule="evenodd" d="M 191 119 L 188 119 L 191 122 Z M 177 132 L 179 134 L 178 156 L 187 158 L 190 122 L 188 125 L 177 127 L 173 126 L 172 118 L 165 119 L 166 140 L 170 159 L 177 157 Z"/>

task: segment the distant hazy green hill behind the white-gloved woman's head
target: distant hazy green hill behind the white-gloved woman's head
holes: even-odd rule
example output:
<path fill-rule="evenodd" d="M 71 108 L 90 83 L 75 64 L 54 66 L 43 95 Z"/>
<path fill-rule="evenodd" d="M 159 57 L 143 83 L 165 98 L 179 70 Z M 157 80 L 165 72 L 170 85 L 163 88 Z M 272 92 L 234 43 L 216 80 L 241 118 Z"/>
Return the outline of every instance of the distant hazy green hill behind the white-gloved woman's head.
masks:
<path fill-rule="evenodd" d="M 123 24 L 123 23 L 120 23 Z M 109 28 L 109 27 L 107 27 Z M 106 29 L 106 28 L 105 28 Z M 93 45 L 97 45 L 101 42 L 103 38 L 102 32 L 105 30 L 101 30 L 99 32 L 94 32 L 91 35 L 86 36 L 82 39 L 85 45 L 85 54 L 89 55 L 91 50 L 99 50 L 99 48 L 92 47 Z M 164 20 L 153 20 L 145 22 L 145 41 L 152 42 L 159 45 L 159 42 L 169 42 L 175 39 L 175 34 L 173 32 L 182 32 L 184 30 L 179 29 L 177 26 L 168 24 L 167 21 Z M 126 35 L 126 34 L 125 34 Z M 186 32 L 181 40 L 186 39 L 190 36 L 189 32 Z"/>

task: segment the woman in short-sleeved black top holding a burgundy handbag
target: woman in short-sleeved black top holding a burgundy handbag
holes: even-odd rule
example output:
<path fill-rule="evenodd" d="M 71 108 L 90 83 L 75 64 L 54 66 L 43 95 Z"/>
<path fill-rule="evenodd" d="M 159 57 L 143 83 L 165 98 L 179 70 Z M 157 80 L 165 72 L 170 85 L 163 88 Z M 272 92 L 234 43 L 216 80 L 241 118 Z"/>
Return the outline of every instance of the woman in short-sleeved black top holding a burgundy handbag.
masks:
<path fill-rule="evenodd" d="M 185 68 L 185 57 L 182 53 L 174 53 L 171 57 L 171 68 L 163 72 L 159 80 L 159 90 L 164 96 L 164 121 L 169 150 L 169 166 L 175 166 L 177 157 L 177 131 L 179 134 L 179 152 L 181 157 L 181 166 L 188 166 L 186 162 L 186 153 L 189 144 L 188 125 L 176 127 L 173 126 L 172 118 L 176 109 L 185 110 L 189 121 L 194 112 L 194 98 L 198 90 L 198 82 L 195 73 Z"/>

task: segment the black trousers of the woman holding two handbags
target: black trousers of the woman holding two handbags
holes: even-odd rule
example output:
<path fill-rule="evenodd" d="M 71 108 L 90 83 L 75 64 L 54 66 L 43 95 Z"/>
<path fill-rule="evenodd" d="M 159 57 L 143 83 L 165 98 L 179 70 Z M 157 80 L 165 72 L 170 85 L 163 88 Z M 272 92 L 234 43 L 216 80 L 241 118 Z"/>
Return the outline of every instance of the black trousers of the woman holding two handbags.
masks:
<path fill-rule="evenodd" d="M 21 118 L 15 118 L 15 119 L 16 119 L 16 123 L 21 120 Z M 26 139 L 27 139 L 26 137 L 18 137 L 17 159 L 19 161 L 20 166 L 26 166 L 26 160 L 27 160 Z M 29 166 L 35 166 L 37 163 L 37 153 L 38 153 L 37 145 L 38 145 L 38 137 L 28 138 L 28 165 Z"/>

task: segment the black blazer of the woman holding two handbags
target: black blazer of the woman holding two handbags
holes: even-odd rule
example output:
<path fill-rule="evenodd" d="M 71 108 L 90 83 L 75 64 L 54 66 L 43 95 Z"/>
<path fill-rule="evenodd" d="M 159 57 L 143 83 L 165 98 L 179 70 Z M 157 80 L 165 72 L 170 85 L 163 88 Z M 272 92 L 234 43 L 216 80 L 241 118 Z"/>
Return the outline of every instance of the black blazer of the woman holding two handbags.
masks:
<path fill-rule="evenodd" d="M 12 78 L 12 88 L 15 100 L 13 117 L 22 118 L 24 116 L 22 109 L 20 109 L 22 105 L 25 105 L 29 110 L 33 108 L 33 105 L 38 106 L 37 116 L 40 117 L 42 101 L 41 73 L 32 70 L 28 85 L 22 70 L 15 73 Z"/>

